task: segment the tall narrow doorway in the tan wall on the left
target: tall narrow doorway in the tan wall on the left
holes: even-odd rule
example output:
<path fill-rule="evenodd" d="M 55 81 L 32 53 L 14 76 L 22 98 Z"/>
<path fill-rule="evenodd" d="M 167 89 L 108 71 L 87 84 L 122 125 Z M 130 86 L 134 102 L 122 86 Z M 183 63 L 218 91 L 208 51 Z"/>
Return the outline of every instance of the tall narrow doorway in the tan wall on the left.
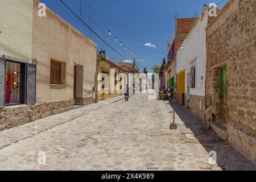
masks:
<path fill-rule="evenodd" d="M 84 68 L 81 65 L 74 66 L 74 84 L 73 84 L 73 99 L 75 105 L 84 105 L 83 101 L 83 71 Z"/>

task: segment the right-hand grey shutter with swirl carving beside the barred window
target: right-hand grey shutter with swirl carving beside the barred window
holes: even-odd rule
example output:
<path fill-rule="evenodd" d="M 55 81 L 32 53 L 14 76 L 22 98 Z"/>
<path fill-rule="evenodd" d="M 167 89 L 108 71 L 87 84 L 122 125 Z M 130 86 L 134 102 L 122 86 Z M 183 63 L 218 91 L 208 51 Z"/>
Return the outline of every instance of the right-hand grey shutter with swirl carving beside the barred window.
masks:
<path fill-rule="evenodd" d="M 36 65 L 26 64 L 26 103 L 35 104 L 36 102 Z"/>

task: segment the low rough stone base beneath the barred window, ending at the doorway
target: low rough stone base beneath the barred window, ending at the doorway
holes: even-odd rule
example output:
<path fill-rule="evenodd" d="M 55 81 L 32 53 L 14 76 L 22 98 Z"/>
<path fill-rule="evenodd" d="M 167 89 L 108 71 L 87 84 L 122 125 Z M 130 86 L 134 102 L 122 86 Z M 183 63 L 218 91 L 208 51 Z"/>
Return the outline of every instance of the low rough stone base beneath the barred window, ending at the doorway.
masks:
<path fill-rule="evenodd" d="M 36 105 L 7 106 L 0 109 L 0 131 L 63 113 L 73 108 L 73 99 Z"/>

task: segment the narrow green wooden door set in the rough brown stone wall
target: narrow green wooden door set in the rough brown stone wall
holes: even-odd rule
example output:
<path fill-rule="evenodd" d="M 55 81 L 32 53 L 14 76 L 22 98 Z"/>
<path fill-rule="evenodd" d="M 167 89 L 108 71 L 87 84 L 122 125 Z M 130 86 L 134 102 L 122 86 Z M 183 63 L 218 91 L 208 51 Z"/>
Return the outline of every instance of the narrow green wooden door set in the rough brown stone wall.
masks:
<path fill-rule="evenodd" d="M 221 107 L 221 124 L 228 123 L 228 70 L 226 67 L 221 68 L 221 97 L 222 97 L 222 107 Z"/>

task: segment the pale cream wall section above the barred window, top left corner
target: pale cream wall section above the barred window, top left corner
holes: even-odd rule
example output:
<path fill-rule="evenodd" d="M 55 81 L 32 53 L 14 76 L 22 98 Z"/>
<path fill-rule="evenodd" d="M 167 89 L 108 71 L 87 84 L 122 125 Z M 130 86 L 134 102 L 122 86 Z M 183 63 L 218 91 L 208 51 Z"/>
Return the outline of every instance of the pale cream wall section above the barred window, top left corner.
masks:
<path fill-rule="evenodd" d="M 32 59 L 33 0 L 0 0 L 0 56 Z"/>

